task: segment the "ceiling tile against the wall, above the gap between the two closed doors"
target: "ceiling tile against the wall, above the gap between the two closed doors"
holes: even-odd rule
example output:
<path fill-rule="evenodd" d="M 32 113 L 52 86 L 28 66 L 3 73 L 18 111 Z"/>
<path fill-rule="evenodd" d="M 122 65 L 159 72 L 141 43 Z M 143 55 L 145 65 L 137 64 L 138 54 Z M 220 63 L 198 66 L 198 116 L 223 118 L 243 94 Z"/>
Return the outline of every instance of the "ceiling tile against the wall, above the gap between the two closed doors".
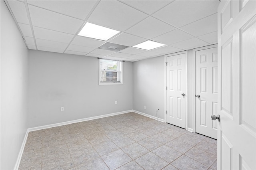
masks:
<path fill-rule="evenodd" d="M 172 44 L 173 47 L 180 48 L 180 49 L 193 49 L 197 47 L 203 47 L 206 45 L 210 45 L 209 43 L 203 42 L 202 40 L 199 40 L 198 38 L 191 38 L 189 40 L 185 40 L 183 42 L 178 42 Z"/>

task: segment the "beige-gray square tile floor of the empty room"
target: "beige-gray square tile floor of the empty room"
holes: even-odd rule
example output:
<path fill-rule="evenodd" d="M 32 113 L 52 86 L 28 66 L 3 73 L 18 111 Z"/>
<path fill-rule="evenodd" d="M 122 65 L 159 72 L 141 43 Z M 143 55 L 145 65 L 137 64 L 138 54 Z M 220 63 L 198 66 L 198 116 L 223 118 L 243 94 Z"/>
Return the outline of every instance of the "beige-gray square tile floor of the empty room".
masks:
<path fill-rule="evenodd" d="M 20 170 L 216 170 L 217 140 L 126 113 L 29 132 Z"/>

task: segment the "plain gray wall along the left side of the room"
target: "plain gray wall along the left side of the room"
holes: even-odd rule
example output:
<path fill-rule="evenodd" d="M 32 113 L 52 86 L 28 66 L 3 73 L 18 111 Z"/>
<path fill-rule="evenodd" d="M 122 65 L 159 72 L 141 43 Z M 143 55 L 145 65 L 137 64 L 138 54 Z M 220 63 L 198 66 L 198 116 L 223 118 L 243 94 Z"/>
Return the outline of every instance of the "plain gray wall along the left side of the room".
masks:
<path fill-rule="evenodd" d="M 28 112 L 28 49 L 6 4 L 1 9 L 1 170 L 14 169 Z"/>

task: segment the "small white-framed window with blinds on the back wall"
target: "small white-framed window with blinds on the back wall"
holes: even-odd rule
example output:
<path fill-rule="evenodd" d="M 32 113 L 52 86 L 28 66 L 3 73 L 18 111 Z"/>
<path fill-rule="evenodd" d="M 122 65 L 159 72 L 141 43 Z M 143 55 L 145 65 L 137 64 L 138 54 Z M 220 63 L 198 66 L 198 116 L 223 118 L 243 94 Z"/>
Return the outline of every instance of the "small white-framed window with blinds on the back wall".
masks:
<path fill-rule="evenodd" d="M 122 61 L 99 59 L 99 85 L 123 84 Z"/>

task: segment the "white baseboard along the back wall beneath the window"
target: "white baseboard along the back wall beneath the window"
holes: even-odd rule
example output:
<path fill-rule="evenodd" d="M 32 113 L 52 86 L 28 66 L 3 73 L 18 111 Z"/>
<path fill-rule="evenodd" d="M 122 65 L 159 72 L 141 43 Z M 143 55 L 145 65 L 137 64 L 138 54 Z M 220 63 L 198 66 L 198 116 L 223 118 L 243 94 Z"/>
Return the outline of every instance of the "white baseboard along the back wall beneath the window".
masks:
<path fill-rule="evenodd" d="M 52 128 L 52 127 L 58 127 L 58 126 L 63 126 L 63 125 L 69 125 L 69 124 L 72 124 L 72 123 L 90 121 L 90 120 L 93 120 L 93 119 L 100 119 L 100 118 L 103 118 L 103 117 L 110 117 L 110 116 L 114 116 L 114 115 L 121 115 L 121 114 L 124 114 L 124 113 L 130 113 L 130 112 L 132 112 L 132 110 L 122 111 L 122 112 L 117 112 L 117 113 L 110 113 L 110 114 L 107 114 L 107 115 L 100 115 L 100 116 L 95 116 L 95 117 L 88 117 L 88 118 L 84 118 L 84 119 L 77 119 L 77 120 L 74 120 L 74 121 L 55 123 L 55 124 L 51 124 L 51 125 L 44 125 L 44 126 L 40 126 L 40 127 L 28 128 L 28 131 L 32 132 L 32 131 L 35 131 L 35 130 L 42 130 L 42 129 L 46 129 L 46 128 Z"/>

